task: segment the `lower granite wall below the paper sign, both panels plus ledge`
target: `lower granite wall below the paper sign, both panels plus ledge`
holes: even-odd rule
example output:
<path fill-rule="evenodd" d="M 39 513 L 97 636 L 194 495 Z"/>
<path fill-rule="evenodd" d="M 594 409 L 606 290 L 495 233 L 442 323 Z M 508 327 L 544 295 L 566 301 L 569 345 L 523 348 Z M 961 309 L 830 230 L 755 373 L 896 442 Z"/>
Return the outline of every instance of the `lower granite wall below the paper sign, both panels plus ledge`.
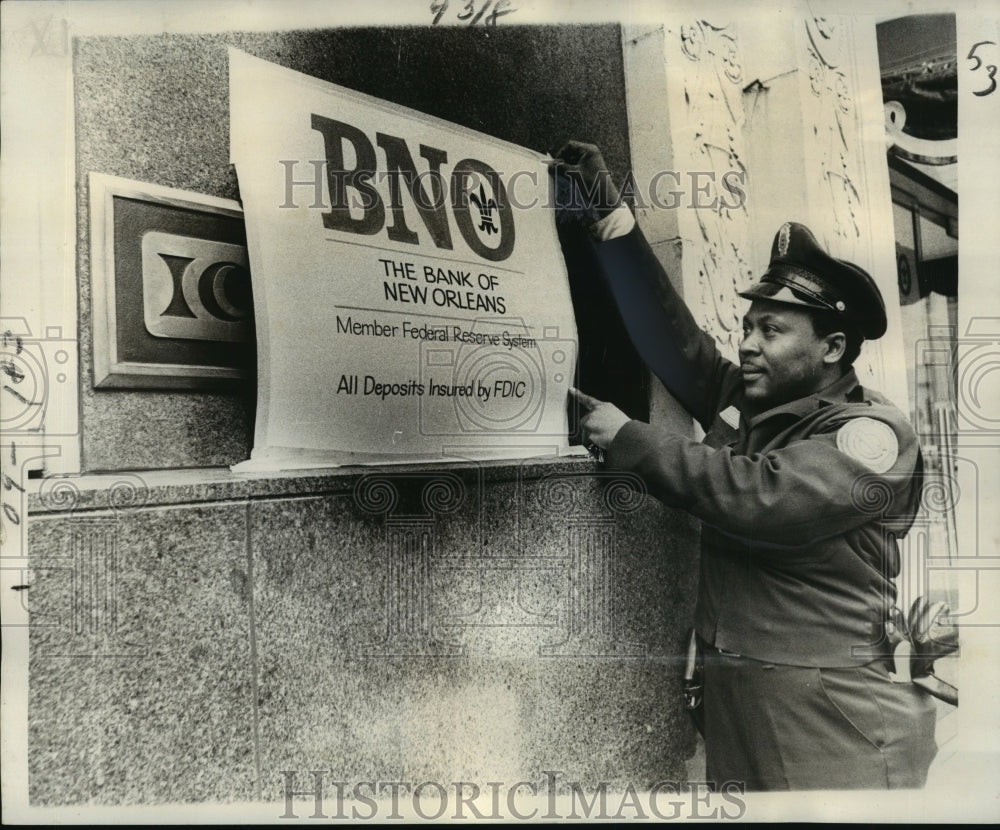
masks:
<path fill-rule="evenodd" d="M 43 482 L 31 803 L 684 780 L 693 525 L 636 486 L 566 461 Z"/>

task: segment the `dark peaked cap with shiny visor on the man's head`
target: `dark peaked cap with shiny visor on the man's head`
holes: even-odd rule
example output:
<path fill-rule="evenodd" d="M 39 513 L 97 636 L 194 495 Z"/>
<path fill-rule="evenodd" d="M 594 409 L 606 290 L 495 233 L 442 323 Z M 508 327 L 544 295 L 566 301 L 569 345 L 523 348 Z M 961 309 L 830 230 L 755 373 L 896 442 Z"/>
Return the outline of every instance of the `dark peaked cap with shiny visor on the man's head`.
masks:
<path fill-rule="evenodd" d="M 868 340 L 885 334 L 885 302 L 875 280 L 857 265 L 834 259 L 797 222 L 781 226 L 767 271 L 740 296 L 832 311 Z"/>

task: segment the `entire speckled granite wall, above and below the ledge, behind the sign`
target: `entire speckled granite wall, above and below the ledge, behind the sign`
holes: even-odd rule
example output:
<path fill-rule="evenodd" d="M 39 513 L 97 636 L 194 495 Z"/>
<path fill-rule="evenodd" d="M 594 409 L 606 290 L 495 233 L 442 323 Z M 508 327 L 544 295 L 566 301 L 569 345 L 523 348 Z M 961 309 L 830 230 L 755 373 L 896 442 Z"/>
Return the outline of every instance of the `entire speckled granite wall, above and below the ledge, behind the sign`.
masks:
<path fill-rule="evenodd" d="M 630 165 L 617 26 L 74 41 L 84 475 L 29 505 L 31 804 L 281 802 L 310 770 L 683 781 L 697 529 L 639 482 L 588 458 L 236 476 L 252 382 L 93 388 L 87 176 L 238 199 L 230 45 Z M 644 370 L 581 284 L 581 385 L 645 417 Z"/>

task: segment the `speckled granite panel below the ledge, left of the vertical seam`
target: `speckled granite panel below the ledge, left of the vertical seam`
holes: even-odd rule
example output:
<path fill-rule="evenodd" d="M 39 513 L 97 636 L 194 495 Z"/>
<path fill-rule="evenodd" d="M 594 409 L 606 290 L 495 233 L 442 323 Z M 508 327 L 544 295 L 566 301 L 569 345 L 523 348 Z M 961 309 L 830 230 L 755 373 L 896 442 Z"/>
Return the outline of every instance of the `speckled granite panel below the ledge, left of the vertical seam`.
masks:
<path fill-rule="evenodd" d="M 32 804 L 254 796 L 245 512 L 33 521 Z"/>

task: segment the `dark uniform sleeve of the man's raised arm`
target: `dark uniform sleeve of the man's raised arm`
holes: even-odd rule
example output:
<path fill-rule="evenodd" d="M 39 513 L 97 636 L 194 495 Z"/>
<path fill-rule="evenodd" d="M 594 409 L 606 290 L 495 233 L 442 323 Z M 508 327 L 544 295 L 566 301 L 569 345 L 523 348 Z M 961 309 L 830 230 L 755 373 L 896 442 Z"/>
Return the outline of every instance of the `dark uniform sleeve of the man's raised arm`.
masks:
<path fill-rule="evenodd" d="M 595 242 L 594 249 L 636 351 L 681 406 L 709 429 L 720 400 L 739 382 L 739 370 L 695 323 L 634 223 L 623 235 Z"/>

